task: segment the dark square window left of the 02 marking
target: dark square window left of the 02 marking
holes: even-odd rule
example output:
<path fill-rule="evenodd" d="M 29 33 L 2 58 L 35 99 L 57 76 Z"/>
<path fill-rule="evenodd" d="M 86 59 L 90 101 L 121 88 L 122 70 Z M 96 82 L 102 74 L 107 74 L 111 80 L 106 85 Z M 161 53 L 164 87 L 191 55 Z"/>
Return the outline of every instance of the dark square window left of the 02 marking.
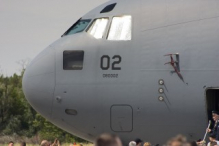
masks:
<path fill-rule="evenodd" d="M 82 70 L 84 62 L 84 51 L 64 51 L 63 52 L 63 69 L 64 70 Z"/>

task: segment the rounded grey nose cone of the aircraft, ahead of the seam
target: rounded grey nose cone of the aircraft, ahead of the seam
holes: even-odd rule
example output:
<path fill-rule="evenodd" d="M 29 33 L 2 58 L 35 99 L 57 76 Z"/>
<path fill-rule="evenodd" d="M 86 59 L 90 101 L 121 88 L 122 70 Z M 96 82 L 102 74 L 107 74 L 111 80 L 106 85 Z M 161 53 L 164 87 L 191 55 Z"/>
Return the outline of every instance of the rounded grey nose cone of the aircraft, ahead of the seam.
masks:
<path fill-rule="evenodd" d="M 55 87 L 55 51 L 51 47 L 41 52 L 26 68 L 23 91 L 31 106 L 44 117 L 52 113 Z"/>

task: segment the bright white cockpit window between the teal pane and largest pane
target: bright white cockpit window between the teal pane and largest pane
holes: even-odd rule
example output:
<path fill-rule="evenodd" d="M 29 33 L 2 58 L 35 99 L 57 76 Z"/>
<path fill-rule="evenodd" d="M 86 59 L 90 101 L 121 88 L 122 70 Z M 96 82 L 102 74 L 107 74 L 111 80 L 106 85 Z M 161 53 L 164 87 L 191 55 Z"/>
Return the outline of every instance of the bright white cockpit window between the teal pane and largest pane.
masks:
<path fill-rule="evenodd" d="M 90 27 L 88 28 L 88 33 L 95 37 L 96 39 L 103 38 L 104 32 L 106 30 L 109 18 L 98 18 L 95 19 Z"/>

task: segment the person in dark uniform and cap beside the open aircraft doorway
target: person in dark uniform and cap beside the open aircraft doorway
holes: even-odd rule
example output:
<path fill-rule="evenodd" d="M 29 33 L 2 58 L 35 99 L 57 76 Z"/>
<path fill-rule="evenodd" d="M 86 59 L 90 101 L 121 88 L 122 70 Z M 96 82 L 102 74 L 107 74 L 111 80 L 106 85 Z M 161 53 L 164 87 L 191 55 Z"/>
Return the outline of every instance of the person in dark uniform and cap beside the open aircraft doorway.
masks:
<path fill-rule="evenodd" d="M 219 141 L 219 111 L 212 111 L 212 118 L 215 121 L 214 128 L 207 129 L 207 131 L 216 135 L 216 141 Z"/>

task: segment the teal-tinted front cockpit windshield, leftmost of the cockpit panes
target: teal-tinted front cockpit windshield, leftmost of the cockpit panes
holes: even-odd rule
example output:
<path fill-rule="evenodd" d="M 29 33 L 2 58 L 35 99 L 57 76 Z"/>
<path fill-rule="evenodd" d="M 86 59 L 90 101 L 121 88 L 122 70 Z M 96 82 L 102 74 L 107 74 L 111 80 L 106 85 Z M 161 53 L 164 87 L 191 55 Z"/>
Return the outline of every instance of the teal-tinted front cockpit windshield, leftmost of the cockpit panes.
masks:
<path fill-rule="evenodd" d="M 87 25 L 90 23 L 91 19 L 80 19 L 75 24 L 73 24 L 65 33 L 64 35 L 70 35 L 82 32 Z"/>

